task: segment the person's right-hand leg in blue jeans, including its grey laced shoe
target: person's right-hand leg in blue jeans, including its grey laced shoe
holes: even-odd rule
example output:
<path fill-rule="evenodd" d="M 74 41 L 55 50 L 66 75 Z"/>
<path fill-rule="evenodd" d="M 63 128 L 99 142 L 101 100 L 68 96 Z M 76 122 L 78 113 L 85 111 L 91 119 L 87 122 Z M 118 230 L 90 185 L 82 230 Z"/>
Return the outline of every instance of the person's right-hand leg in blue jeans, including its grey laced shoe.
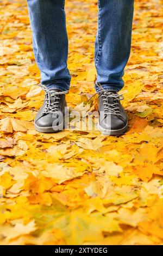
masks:
<path fill-rule="evenodd" d="M 95 63 L 98 92 L 98 129 L 104 135 L 121 135 L 128 129 L 128 118 L 117 92 L 131 46 L 134 0 L 98 0 L 98 33 Z"/>

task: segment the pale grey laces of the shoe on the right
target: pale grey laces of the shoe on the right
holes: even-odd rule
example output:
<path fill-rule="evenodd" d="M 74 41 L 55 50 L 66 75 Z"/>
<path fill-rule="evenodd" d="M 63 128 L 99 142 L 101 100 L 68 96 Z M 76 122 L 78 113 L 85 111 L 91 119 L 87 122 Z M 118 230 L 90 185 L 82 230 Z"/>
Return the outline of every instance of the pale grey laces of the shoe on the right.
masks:
<path fill-rule="evenodd" d="M 97 82 L 96 85 L 101 90 L 99 90 L 99 92 L 96 92 L 95 94 L 93 94 L 93 96 L 95 96 L 98 93 L 99 96 L 102 97 L 103 105 L 104 105 L 104 114 L 114 114 L 114 115 L 121 116 L 119 101 L 124 99 L 123 95 L 122 94 L 119 95 L 116 92 L 114 93 L 114 92 L 110 92 L 110 91 L 104 89 L 102 87 L 101 83 L 99 83 L 99 82 Z M 109 99 L 112 99 L 113 102 L 109 103 Z"/>

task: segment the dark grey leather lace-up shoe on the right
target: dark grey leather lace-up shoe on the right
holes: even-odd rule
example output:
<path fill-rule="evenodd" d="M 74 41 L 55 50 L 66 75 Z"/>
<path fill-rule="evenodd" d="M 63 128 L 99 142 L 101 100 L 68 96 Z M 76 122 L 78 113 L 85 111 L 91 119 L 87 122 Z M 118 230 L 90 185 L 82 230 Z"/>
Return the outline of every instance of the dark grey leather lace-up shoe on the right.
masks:
<path fill-rule="evenodd" d="M 104 135 L 121 135 L 128 129 L 128 118 L 121 105 L 123 96 L 114 91 L 105 90 L 101 84 L 98 92 L 98 129 Z"/>

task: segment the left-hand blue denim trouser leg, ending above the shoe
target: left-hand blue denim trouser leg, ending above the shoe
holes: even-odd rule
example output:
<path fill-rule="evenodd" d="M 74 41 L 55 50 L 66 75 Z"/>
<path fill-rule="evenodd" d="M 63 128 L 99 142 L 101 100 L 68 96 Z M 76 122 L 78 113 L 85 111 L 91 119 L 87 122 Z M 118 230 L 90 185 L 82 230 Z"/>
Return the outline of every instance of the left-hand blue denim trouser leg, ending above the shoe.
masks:
<path fill-rule="evenodd" d="M 68 39 L 65 0 L 27 0 L 33 48 L 41 71 L 41 84 L 49 89 L 68 90 Z"/>

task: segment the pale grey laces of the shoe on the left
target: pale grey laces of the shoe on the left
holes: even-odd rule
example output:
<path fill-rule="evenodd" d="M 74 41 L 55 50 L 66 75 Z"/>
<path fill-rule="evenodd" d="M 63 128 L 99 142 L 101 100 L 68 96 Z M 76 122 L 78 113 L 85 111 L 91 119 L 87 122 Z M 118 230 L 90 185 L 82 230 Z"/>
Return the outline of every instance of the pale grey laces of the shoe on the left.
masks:
<path fill-rule="evenodd" d="M 58 111 L 58 104 L 60 97 L 59 95 L 61 94 L 66 94 L 68 93 L 68 90 L 65 90 L 63 92 L 51 92 L 46 86 L 43 86 L 43 84 L 39 84 L 39 86 L 45 91 L 45 109 L 43 110 L 43 114 L 48 114 L 48 113 L 54 113 Z M 51 97 L 54 97 L 54 102 L 51 102 Z"/>

